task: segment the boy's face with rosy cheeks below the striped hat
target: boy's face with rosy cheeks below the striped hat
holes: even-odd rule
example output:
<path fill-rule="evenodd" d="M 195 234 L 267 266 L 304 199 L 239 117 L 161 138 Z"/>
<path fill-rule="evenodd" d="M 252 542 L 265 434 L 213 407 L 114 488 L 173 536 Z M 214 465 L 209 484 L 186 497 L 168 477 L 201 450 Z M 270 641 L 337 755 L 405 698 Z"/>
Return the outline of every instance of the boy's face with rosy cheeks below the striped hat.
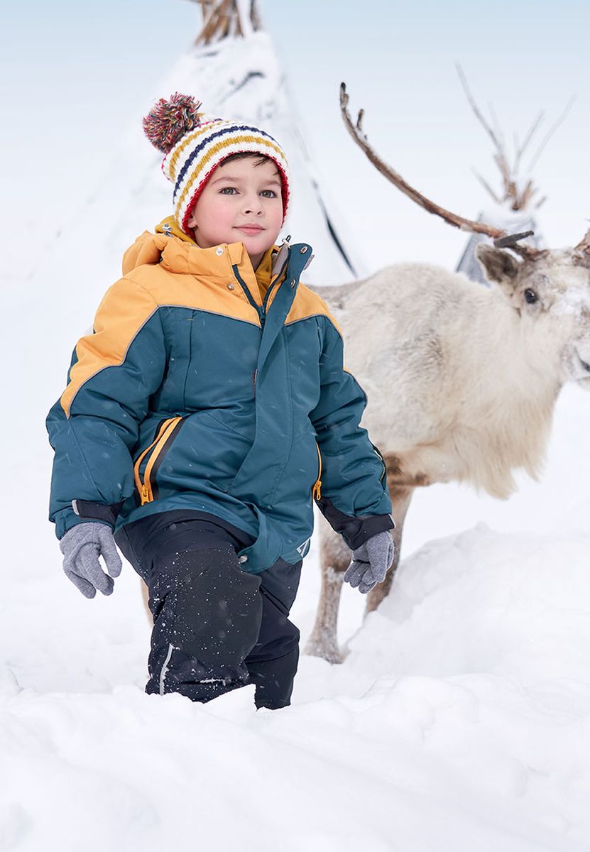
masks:
<path fill-rule="evenodd" d="M 256 269 L 283 220 L 281 177 L 273 161 L 246 157 L 217 166 L 188 220 L 202 249 L 243 243 Z"/>

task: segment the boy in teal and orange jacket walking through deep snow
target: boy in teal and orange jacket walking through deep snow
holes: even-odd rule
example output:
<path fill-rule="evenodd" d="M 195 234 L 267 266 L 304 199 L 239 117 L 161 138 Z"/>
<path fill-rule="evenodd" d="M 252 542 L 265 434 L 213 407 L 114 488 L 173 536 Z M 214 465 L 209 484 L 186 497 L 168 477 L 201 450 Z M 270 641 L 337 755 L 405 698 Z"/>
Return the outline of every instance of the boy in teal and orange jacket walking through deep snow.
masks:
<path fill-rule="evenodd" d="M 115 540 L 148 585 L 148 694 L 207 701 L 253 682 L 274 709 L 297 671 L 288 614 L 313 499 L 362 592 L 385 578 L 394 525 L 366 398 L 327 306 L 298 283 L 310 247 L 275 245 L 285 154 L 199 107 L 176 93 L 144 119 L 174 216 L 125 252 L 49 412 L 50 519 L 85 596 L 113 591 Z"/>

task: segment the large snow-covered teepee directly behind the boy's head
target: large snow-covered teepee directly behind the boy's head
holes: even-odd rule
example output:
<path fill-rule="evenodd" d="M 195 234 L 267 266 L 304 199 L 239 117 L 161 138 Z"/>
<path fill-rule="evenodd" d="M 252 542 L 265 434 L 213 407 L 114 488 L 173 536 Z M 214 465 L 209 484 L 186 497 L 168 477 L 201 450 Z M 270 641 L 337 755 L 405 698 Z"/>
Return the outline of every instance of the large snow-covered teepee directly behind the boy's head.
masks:
<path fill-rule="evenodd" d="M 137 112 L 110 172 L 84 216 L 108 222 L 107 257 L 120 262 L 138 233 L 171 213 L 172 187 L 159 168 L 161 154 L 142 133 L 141 115 L 159 97 L 195 95 L 205 112 L 244 120 L 280 141 L 291 168 L 292 205 L 281 236 L 313 246 L 306 273 L 312 284 L 337 284 L 366 272 L 359 246 L 320 187 L 304 143 L 272 39 L 263 30 L 257 0 L 199 0 L 203 23 L 192 47 Z"/>

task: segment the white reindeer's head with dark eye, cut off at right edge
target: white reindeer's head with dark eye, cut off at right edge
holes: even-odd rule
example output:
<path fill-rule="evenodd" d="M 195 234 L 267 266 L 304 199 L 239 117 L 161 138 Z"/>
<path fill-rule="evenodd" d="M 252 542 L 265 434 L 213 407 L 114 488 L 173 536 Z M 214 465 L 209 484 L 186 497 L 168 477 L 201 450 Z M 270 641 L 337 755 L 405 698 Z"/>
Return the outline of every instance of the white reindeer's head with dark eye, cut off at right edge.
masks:
<path fill-rule="evenodd" d="M 561 381 L 590 389 L 590 254 L 587 236 L 574 249 L 534 250 L 518 261 L 494 245 L 478 245 L 477 260 L 499 285 L 535 348 L 555 353 Z M 544 342 L 547 343 L 544 343 Z"/>

